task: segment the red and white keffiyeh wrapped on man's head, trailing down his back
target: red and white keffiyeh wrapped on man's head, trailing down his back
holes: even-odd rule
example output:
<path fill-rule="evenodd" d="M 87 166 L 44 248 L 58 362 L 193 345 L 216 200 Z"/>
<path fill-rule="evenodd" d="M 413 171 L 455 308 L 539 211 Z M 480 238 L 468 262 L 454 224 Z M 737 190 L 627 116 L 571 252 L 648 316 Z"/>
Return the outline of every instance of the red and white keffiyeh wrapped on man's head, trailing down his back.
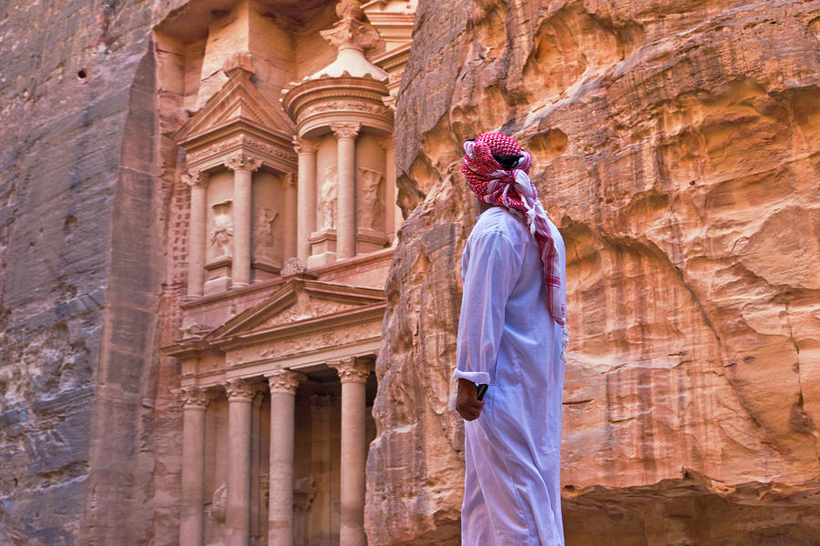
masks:
<path fill-rule="evenodd" d="M 490 205 L 518 211 L 527 222 L 529 232 L 538 241 L 549 313 L 560 326 L 564 326 L 567 322 L 567 299 L 561 271 L 563 260 L 550 229 L 556 227 L 549 222 L 538 200 L 535 184 L 528 176 L 532 157 L 518 142 L 500 133 L 485 133 L 475 140 L 467 140 L 464 152 L 466 155 L 461 172 L 465 174 L 473 193 Z M 515 167 L 506 169 L 493 154 L 499 157 L 517 155 L 520 158 Z"/>

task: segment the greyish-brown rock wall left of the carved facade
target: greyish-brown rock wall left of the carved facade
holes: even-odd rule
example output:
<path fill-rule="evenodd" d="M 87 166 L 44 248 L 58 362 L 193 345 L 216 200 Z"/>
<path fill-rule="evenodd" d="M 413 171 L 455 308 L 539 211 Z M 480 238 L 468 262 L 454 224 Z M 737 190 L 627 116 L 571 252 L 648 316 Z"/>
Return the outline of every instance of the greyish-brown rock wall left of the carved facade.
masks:
<path fill-rule="evenodd" d="M 0 3 L 0 543 L 147 544 L 164 273 L 152 15 Z"/>

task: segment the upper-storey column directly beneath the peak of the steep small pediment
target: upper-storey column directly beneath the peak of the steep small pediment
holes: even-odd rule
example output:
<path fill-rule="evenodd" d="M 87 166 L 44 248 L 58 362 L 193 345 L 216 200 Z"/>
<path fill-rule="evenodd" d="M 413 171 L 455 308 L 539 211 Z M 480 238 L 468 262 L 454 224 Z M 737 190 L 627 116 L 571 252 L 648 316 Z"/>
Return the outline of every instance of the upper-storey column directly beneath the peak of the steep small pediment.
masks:
<path fill-rule="evenodd" d="M 245 154 L 229 158 L 225 165 L 233 171 L 233 258 L 231 287 L 251 284 L 251 221 L 253 217 L 253 171 L 261 161 Z"/>

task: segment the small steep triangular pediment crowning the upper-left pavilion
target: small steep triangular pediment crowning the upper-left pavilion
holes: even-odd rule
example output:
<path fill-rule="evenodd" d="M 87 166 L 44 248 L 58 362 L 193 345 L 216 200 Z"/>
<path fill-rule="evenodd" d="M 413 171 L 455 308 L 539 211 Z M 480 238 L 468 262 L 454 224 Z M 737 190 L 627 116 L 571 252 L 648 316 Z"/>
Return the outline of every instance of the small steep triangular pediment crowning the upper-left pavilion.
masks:
<path fill-rule="evenodd" d="M 295 127 L 281 109 L 271 106 L 251 82 L 247 72 L 236 71 L 202 109 L 174 135 L 179 143 L 208 135 L 224 126 L 242 122 L 266 131 L 293 134 Z"/>

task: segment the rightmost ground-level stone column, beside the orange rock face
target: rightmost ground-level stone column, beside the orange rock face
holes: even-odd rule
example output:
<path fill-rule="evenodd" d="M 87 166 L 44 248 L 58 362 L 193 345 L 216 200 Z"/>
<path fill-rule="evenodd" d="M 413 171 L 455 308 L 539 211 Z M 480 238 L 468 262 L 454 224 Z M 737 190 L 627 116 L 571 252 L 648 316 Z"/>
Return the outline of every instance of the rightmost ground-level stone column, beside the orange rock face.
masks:
<path fill-rule="evenodd" d="M 366 546 L 364 534 L 365 389 L 371 364 L 351 358 L 328 362 L 342 381 L 342 521 L 340 543 Z"/>

